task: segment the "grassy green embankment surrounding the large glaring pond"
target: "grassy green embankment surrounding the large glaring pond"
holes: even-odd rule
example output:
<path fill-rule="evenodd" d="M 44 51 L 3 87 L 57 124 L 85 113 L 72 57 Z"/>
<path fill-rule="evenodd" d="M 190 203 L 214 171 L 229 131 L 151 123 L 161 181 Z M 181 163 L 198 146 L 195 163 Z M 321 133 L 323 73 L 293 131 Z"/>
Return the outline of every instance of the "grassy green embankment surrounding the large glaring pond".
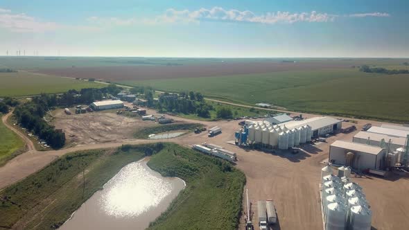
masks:
<path fill-rule="evenodd" d="M 0 229 L 55 229 L 123 166 L 152 154 L 151 168 L 162 175 L 180 177 L 187 183 L 153 228 L 236 228 L 245 183 L 243 173 L 227 162 L 179 145 L 155 143 L 67 154 L 40 172 L 5 188 L 0 191 Z M 180 219 L 183 215 L 189 218 Z"/>

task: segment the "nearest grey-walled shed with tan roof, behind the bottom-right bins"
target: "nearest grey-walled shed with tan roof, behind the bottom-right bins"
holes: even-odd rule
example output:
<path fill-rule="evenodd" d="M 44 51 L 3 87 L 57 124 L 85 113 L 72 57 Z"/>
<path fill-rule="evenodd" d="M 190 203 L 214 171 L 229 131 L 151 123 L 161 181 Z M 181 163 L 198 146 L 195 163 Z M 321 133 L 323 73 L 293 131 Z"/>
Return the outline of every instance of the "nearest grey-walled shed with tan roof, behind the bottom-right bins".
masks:
<path fill-rule="evenodd" d="M 347 153 L 349 159 L 347 163 Z M 385 165 L 386 150 L 380 147 L 347 141 L 335 141 L 329 147 L 331 163 L 348 165 L 357 170 L 382 169 Z"/>

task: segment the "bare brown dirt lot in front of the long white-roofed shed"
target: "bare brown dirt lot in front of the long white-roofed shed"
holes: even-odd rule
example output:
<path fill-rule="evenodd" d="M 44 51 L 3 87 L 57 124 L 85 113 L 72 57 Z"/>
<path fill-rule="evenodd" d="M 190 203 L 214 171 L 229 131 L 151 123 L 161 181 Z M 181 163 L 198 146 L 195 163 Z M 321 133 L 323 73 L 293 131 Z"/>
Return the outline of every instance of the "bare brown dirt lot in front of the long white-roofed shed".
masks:
<path fill-rule="evenodd" d="M 154 125 L 154 123 L 110 112 L 67 115 L 59 110 L 53 125 L 65 132 L 67 145 L 71 146 L 132 139 L 132 134 L 138 128 Z"/>

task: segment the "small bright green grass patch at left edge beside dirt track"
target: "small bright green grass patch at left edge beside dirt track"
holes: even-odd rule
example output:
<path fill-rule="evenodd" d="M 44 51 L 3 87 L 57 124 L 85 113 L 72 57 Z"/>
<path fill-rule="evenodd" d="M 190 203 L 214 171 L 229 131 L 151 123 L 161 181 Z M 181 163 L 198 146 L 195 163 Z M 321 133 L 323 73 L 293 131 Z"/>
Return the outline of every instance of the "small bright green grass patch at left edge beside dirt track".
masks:
<path fill-rule="evenodd" d="M 24 142 L 0 121 L 0 166 L 15 157 L 22 148 Z"/>

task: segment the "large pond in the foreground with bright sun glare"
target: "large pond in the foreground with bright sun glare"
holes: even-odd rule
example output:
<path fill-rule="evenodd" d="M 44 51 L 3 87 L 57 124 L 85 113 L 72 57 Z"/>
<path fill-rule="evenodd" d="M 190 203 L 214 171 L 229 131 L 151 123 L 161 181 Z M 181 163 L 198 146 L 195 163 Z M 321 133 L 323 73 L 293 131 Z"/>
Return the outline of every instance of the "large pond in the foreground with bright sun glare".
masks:
<path fill-rule="evenodd" d="M 123 167 L 60 229 L 146 229 L 182 191 L 182 179 L 162 177 L 143 159 Z"/>

